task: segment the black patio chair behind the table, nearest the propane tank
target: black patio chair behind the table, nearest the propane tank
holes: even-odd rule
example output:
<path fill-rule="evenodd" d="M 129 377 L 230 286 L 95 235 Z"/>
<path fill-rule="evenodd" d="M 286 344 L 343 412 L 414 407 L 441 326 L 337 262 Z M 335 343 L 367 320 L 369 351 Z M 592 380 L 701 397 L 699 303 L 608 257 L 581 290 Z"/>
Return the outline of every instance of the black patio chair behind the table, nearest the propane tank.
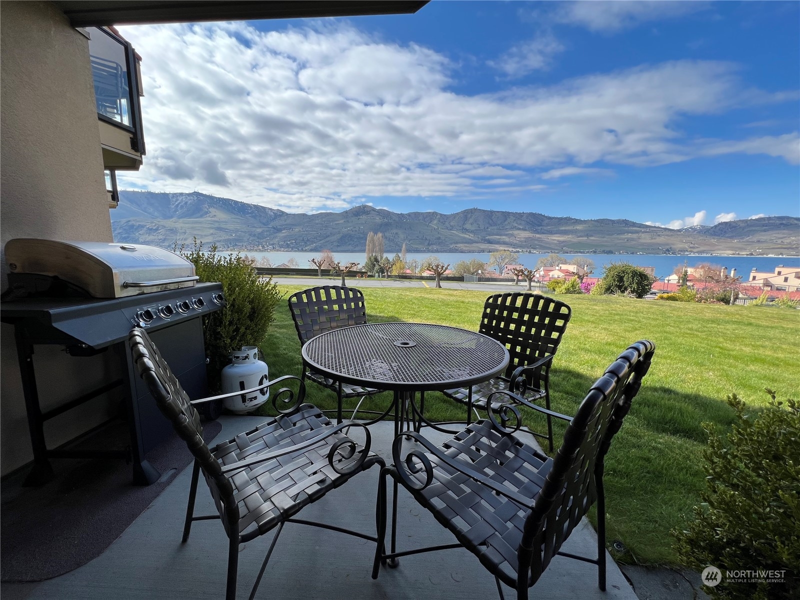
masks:
<path fill-rule="evenodd" d="M 294 328 L 298 332 L 300 344 L 305 344 L 311 338 L 323 334 L 336 327 L 350 325 L 363 325 L 366 323 L 366 304 L 364 294 L 354 287 L 318 286 L 307 290 L 295 292 L 289 297 L 289 310 L 294 321 Z M 361 398 L 355 407 L 351 418 L 357 413 L 378 415 L 368 424 L 386 417 L 391 406 L 383 412 L 376 410 L 359 410 L 364 398 L 374 394 L 381 394 L 385 390 L 376 390 L 371 387 L 354 386 L 324 377 L 310 370 L 304 363 L 300 378 L 306 379 L 319 386 L 325 387 L 336 393 L 337 408 L 336 422 L 342 422 L 342 400 L 344 398 Z M 324 413 L 332 412 L 324 410 Z"/>

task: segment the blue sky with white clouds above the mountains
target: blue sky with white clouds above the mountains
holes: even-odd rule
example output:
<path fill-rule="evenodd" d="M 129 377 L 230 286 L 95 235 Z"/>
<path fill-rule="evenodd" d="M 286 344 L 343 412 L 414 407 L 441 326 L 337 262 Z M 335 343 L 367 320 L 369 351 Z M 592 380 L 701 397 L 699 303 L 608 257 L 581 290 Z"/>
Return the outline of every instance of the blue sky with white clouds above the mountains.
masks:
<path fill-rule="evenodd" d="M 672 227 L 800 214 L 797 2 L 434 0 L 120 30 L 146 94 L 126 189 Z"/>

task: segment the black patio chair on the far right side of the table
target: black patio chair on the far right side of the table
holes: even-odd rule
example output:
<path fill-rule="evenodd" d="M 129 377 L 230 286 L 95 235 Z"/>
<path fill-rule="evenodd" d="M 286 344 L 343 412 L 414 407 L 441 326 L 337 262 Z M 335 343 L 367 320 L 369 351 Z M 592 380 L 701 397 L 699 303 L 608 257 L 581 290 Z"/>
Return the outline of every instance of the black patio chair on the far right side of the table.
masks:
<path fill-rule="evenodd" d="M 478 331 L 505 345 L 510 360 L 505 374 L 499 377 L 443 392 L 466 405 L 467 424 L 472 422 L 475 409 L 486 410 L 487 399 L 497 390 L 514 392 L 529 403 L 544 399 L 545 408 L 550 410 L 550 366 L 571 316 L 570 306 L 541 294 L 514 292 L 486 298 Z M 499 404 L 496 402 L 495 409 Z M 549 414 L 546 421 L 547 434 L 531 433 L 546 438 L 552 452 L 553 421 Z"/>

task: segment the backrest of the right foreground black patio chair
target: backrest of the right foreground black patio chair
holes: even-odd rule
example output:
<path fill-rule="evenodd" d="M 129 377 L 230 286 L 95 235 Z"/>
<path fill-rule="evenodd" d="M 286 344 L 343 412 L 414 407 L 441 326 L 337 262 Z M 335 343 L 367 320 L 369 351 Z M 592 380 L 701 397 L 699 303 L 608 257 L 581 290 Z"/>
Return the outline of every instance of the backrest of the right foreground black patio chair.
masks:
<path fill-rule="evenodd" d="M 622 426 L 654 352 L 654 343 L 647 340 L 629 346 L 594 383 L 567 426 L 522 534 L 520 548 L 533 548 L 533 582 L 597 499 L 595 484 L 602 477 L 611 438 Z"/>

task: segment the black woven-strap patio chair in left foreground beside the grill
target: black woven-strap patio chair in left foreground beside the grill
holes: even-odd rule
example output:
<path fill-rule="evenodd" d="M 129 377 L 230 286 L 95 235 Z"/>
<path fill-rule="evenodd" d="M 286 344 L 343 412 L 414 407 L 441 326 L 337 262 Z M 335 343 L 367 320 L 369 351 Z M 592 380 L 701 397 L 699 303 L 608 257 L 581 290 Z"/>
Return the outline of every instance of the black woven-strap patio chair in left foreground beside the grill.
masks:
<path fill-rule="evenodd" d="M 128 343 L 134 366 L 153 394 L 158 408 L 194 455 L 182 542 L 189 538 L 194 521 L 218 518 L 225 527 L 229 541 L 226 600 L 236 598 L 239 544 L 266 534 L 276 526 L 278 531 L 258 572 L 250 598 L 255 595 L 278 536 L 287 522 L 333 529 L 378 542 L 374 536 L 292 518 L 303 506 L 316 502 L 355 474 L 375 464 L 385 466 L 382 458 L 370 452 L 370 431 L 366 426 L 361 423 L 334 426 L 316 406 L 302 403 L 305 386 L 292 375 L 266 382 L 253 390 L 190 401 L 144 330 L 131 330 Z M 254 430 L 238 434 L 214 448 L 209 448 L 203 441 L 200 415 L 194 406 L 231 395 L 250 394 L 290 380 L 299 382 L 298 394 L 295 398 L 289 388 L 273 394 L 272 402 L 278 410 L 278 417 L 269 418 Z M 362 428 L 366 442 L 362 445 L 347 437 L 342 433 L 347 427 Z M 194 499 L 201 470 L 218 514 L 195 517 Z"/>

